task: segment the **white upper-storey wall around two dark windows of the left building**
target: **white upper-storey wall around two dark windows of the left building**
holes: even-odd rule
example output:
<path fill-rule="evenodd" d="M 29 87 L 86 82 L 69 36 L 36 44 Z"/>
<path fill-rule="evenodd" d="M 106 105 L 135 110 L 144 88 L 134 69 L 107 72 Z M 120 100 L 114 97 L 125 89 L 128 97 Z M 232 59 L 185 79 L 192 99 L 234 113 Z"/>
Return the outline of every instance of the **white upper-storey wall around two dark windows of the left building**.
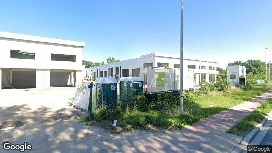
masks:
<path fill-rule="evenodd" d="M 82 48 L 56 44 L 30 43 L 0 38 L 0 67 L 29 69 L 73 69 L 84 70 Z M 10 58 L 10 50 L 35 53 L 35 60 Z M 76 62 L 51 61 L 51 53 L 75 55 Z"/>

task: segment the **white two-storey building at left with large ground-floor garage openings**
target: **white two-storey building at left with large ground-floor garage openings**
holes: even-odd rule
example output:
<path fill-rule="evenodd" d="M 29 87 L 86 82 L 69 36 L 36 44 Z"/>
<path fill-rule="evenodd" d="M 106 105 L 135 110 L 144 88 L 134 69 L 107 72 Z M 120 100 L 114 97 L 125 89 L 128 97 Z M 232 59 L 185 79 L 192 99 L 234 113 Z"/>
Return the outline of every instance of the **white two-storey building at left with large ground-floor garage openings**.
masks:
<path fill-rule="evenodd" d="M 0 32 L 1 88 L 76 86 L 84 42 Z"/>

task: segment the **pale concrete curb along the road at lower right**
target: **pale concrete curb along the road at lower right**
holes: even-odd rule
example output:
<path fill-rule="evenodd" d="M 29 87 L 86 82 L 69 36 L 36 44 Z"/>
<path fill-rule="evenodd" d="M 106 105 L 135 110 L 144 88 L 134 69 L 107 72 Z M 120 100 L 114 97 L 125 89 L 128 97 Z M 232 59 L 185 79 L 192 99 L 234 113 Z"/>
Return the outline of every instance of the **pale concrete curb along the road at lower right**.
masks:
<path fill-rule="evenodd" d="M 257 124 L 252 131 L 243 138 L 240 144 L 232 152 L 243 152 L 246 150 L 247 145 L 253 140 L 255 135 L 260 131 L 260 128 L 266 123 L 268 118 L 272 117 L 272 111 L 270 111 L 267 116 L 264 117 L 261 123 Z"/>

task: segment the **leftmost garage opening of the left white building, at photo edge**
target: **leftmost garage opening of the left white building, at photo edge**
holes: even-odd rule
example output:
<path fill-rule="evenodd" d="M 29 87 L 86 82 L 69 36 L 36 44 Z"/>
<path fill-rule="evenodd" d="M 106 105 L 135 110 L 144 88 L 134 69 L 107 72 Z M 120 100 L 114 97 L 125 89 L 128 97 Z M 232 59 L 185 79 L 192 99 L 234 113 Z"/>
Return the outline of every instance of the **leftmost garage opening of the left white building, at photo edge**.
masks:
<path fill-rule="evenodd" d="M 2 68 L 1 89 L 36 88 L 36 69 Z"/>

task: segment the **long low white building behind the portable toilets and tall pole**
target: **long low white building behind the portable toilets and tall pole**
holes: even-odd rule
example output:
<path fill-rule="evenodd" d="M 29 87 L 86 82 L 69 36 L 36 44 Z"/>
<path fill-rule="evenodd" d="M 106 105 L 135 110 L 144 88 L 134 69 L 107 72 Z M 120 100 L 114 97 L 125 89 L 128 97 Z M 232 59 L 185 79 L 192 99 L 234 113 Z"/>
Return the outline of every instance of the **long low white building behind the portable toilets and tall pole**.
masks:
<path fill-rule="evenodd" d="M 162 53 L 151 53 L 140 56 L 140 58 L 114 62 L 105 65 L 99 65 L 87 68 L 86 75 L 95 80 L 100 76 L 115 77 L 119 81 L 120 77 L 143 77 L 146 83 L 146 77 L 143 69 L 146 67 L 164 67 L 180 68 L 180 57 Z M 217 62 L 184 59 L 184 70 L 194 71 L 194 84 L 197 86 L 200 82 L 209 82 L 212 78 L 216 81 L 218 72 L 216 71 Z M 200 77 L 201 76 L 201 77 Z"/>

